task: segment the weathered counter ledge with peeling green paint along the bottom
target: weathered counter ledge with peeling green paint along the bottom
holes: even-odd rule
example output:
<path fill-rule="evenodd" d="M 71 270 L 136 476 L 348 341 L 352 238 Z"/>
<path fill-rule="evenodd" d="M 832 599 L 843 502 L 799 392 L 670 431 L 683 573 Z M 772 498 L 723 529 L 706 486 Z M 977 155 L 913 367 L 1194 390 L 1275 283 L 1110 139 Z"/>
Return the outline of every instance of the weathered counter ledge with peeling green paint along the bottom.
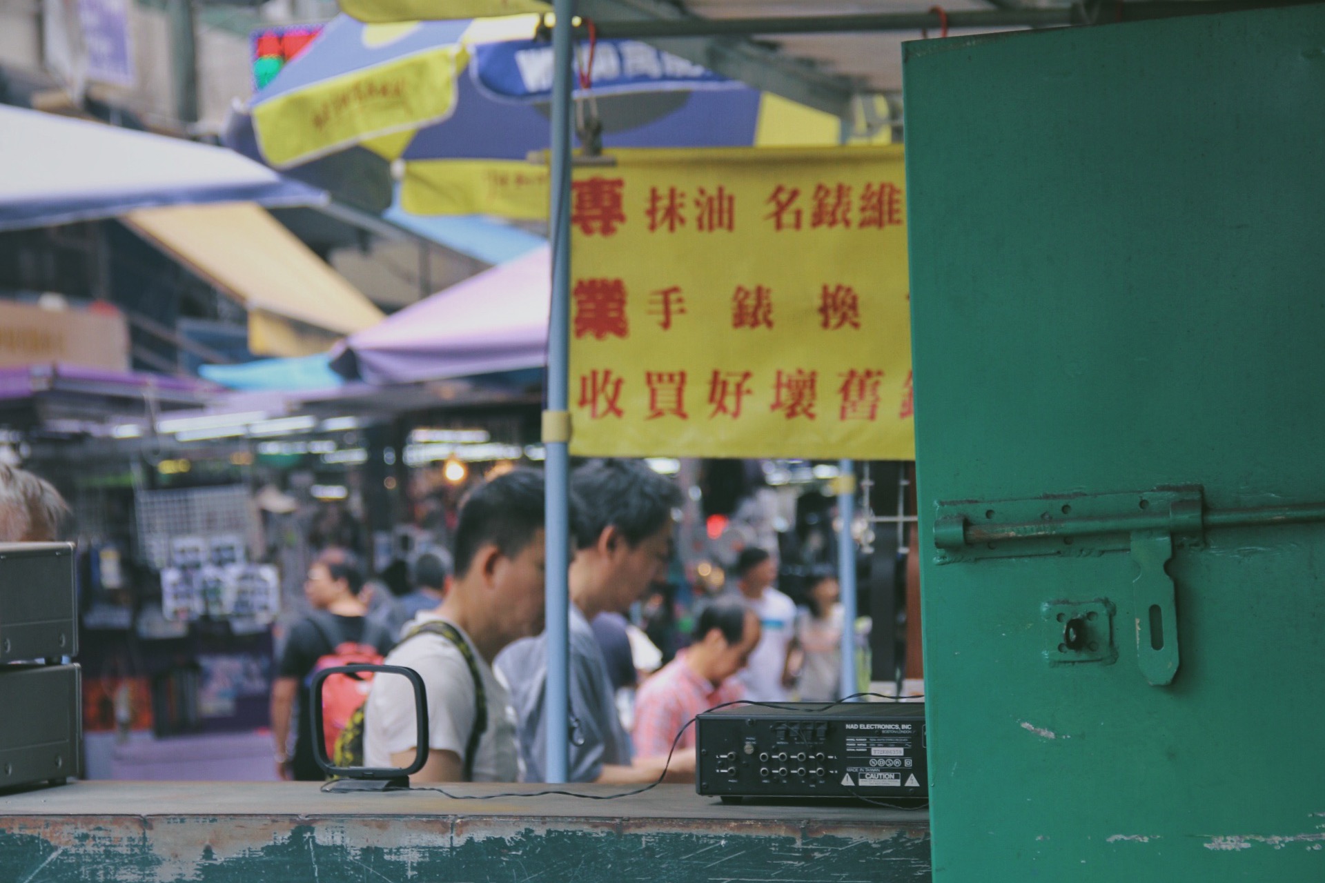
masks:
<path fill-rule="evenodd" d="M 5 883 L 892 883 L 929 876 L 924 812 L 725 805 L 688 785 L 610 801 L 450 800 L 425 790 L 327 794 L 310 782 L 97 781 L 0 796 Z"/>

